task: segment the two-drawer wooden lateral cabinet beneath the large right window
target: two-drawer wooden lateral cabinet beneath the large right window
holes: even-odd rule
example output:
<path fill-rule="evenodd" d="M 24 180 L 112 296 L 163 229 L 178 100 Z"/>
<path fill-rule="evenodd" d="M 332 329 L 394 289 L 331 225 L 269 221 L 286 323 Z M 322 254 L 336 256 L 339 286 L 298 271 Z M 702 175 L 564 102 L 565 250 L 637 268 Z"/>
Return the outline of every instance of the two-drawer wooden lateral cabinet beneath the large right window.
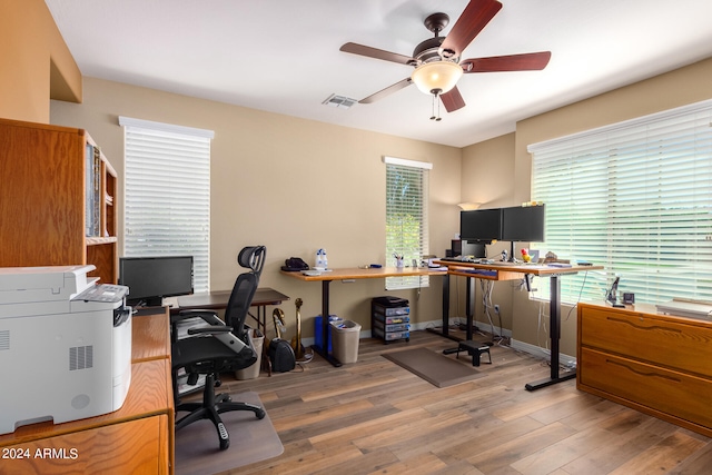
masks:
<path fill-rule="evenodd" d="M 578 304 L 576 387 L 712 436 L 712 323 Z"/>

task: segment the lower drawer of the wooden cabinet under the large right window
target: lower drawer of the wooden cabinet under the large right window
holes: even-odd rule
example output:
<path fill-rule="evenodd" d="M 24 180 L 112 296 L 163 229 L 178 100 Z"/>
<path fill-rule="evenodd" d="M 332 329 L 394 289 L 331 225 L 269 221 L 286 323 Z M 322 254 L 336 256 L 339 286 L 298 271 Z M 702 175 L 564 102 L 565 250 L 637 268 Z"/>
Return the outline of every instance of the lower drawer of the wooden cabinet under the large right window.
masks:
<path fill-rule="evenodd" d="M 712 428 L 712 382 L 589 348 L 581 359 L 581 385 Z"/>

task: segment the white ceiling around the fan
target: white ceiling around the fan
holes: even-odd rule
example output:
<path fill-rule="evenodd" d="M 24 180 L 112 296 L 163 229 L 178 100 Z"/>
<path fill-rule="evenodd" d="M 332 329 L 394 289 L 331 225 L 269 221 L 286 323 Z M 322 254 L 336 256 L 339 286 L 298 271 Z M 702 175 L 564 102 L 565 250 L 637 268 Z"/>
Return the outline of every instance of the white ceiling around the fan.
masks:
<path fill-rule="evenodd" d="M 712 57 L 710 0 L 501 0 L 463 58 L 552 51 L 543 71 L 466 75 L 467 106 L 429 120 L 412 72 L 339 51 L 353 41 L 406 56 L 467 0 L 46 0 L 81 73 L 339 126 L 464 147 L 517 120 Z M 447 34 L 449 27 L 445 29 Z M 710 78 L 712 80 L 712 78 Z M 146 118 L 151 119 L 151 118 Z"/>

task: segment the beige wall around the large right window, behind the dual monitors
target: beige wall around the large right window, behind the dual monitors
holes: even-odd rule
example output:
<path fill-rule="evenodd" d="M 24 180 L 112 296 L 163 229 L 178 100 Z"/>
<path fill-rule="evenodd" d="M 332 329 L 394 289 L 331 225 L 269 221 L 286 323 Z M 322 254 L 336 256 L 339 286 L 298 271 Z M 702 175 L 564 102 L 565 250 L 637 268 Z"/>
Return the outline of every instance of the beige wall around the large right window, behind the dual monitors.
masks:
<path fill-rule="evenodd" d="M 514 144 L 511 136 L 503 136 L 466 147 L 463 150 L 463 199 L 487 205 L 493 200 L 492 206 L 527 201 L 532 166 L 526 150 L 528 145 L 710 99 L 711 78 L 712 58 L 522 120 L 516 126 Z M 488 164 L 490 160 L 493 164 Z M 479 185 L 476 176 L 485 170 L 494 175 L 486 175 L 488 180 Z M 510 172 L 511 179 L 502 177 L 504 172 Z M 492 176 L 497 176 L 498 187 L 493 188 Z M 484 197 L 478 192 L 485 194 Z M 531 345 L 547 340 L 547 335 L 537 328 L 540 304 L 530 300 L 526 293 L 514 291 L 508 284 L 501 283 L 496 285 L 493 301 L 503 306 L 503 319 L 511 319 L 513 338 Z M 510 306 L 507 301 L 511 301 Z M 570 307 L 564 306 L 561 344 L 563 353 L 574 356 L 576 317 L 575 311 L 568 311 Z M 548 315 L 547 305 L 544 314 Z"/>

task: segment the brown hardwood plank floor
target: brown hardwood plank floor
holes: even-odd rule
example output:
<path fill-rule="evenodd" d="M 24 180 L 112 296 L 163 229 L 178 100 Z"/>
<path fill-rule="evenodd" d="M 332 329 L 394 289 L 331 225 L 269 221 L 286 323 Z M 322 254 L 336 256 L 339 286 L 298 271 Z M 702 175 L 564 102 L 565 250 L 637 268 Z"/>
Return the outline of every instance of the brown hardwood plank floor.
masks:
<path fill-rule="evenodd" d="M 231 473 L 710 473 L 712 439 L 581 393 L 575 379 L 527 392 L 548 367 L 508 347 L 492 348 L 494 364 L 479 367 L 485 377 L 445 388 L 382 357 L 453 344 L 413 331 L 409 343 L 362 339 L 358 363 L 339 368 L 317 356 L 304 370 L 226 376 L 221 392 L 259 394 L 285 446 Z M 468 356 L 461 362 L 471 365 Z"/>

